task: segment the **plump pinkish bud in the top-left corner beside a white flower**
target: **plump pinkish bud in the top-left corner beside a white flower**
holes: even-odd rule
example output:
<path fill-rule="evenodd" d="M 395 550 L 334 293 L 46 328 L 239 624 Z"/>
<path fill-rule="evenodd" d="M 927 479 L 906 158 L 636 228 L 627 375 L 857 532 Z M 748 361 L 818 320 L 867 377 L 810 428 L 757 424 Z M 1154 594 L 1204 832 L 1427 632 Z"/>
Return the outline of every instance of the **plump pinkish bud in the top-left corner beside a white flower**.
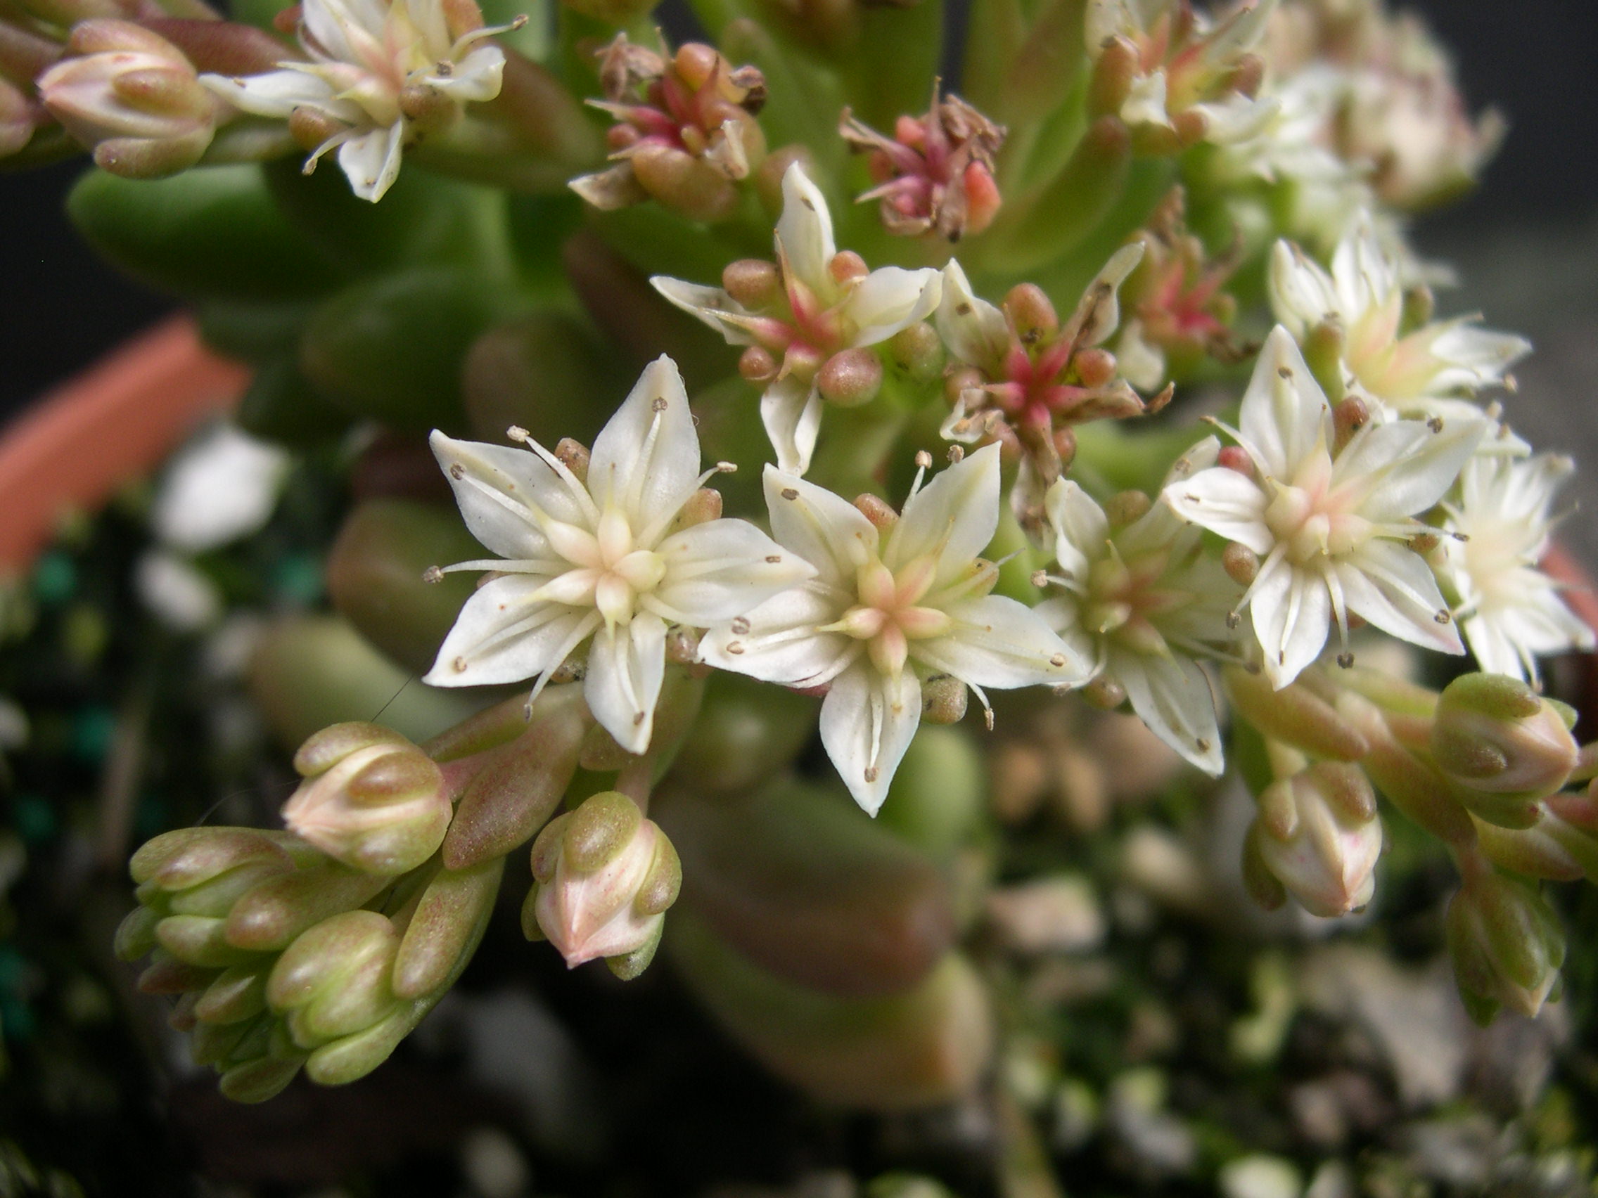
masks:
<path fill-rule="evenodd" d="M 200 161 L 216 131 L 217 101 L 166 38 L 129 21 L 83 21 L 78 51 L 38 77 L 50 113 L 107 171 L 134 179 Z"/>

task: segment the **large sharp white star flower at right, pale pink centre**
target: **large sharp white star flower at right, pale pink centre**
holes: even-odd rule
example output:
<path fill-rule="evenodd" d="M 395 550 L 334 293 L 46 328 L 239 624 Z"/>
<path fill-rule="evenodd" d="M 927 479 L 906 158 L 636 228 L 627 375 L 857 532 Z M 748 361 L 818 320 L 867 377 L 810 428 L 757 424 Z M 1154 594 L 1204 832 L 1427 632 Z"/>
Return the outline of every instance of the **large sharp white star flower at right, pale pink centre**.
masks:
<path fill-rule="evenodd" d="M 1238 431 L 1253 471 L 1211 466 L 1163 492 L 1194 524 L 1259 554 L 1243 601 L 1272 685 L 1285 687 L 1349 613 L 1405 641 L 1462 653 L 1437 580 L 1406 541 L 1416 514 L 1459 476 L 1485 422 L 1366 422 L 1336 455 L 1331 407 L 1280 324 L 1243 396 Z"/>

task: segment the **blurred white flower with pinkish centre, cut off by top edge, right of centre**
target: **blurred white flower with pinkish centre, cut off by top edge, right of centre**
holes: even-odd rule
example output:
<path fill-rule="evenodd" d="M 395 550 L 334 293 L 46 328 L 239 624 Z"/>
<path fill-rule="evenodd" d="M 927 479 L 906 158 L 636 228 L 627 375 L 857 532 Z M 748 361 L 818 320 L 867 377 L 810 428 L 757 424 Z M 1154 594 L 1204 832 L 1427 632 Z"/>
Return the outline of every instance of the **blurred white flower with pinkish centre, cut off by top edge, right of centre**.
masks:
<path fill-rule="evenodd" d="M 1210 21 L 1191 0 L 1106 0 L 1088 6 L 1088 110 L 1120 117 L 1143 153 L 1232 142 L 1272 115 L 1256 99 L 1269 0 L 1242 0 Z"/>

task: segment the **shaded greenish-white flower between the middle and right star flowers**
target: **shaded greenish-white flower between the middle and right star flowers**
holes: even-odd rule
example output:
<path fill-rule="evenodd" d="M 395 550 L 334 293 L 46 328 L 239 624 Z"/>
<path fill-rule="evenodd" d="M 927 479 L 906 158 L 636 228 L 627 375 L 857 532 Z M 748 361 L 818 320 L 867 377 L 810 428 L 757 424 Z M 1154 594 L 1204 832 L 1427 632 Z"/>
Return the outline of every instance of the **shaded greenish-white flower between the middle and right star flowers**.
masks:
<path fill-rule="evenodd" d="M 1173 468 L 1189 478 L 1216 458 L 1213 438 Z M 1221 728 L 1198 658 L 1229 642 L 1242 588 L 1206 554 L 1197 526 L 1155 503 L 1125 527 L 1071 479 L 1043 497 L 1061 594 L 1037 607 L 1066 644 L 1119 682 L 1149 730 L 1200 770 L 1219 775 Z"/>

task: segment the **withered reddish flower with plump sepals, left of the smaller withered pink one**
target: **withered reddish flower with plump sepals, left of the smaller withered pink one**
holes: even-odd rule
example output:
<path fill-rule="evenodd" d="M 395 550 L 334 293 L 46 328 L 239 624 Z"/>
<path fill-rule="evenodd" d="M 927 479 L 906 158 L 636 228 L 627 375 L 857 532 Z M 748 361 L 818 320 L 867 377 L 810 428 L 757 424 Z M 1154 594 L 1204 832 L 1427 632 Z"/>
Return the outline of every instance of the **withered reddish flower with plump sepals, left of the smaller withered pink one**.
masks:
<path fill-rule="evenodd" d="M 599 51 L 602 101 L 610 113 L 615 166 L 570 182 L 599 209 L 658 200 L 694 220 L 725 220 L 738 208 L 737 184 L 765 158 L 754 120 L 765 102 L 756 67 L 733 67 L 700 42 L 662 54 L 626 34 Z"/>

